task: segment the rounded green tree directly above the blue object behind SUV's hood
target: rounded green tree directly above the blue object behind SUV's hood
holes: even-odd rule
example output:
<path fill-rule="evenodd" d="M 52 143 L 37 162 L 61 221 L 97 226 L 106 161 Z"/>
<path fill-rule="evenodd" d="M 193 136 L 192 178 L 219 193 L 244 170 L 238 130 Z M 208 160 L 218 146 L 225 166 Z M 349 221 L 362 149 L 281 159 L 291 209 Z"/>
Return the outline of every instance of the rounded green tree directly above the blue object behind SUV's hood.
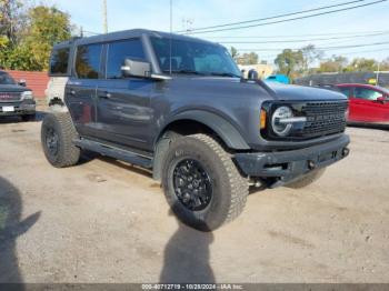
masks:
<path fill-rule="evenodd" d="M 301 72 L 303 68 L 302 51 L 285 49 L 280 54 L 277 56 L 275 63 L 278 67 L 279 73 L 283 73 L 290 79 L 293 79 Z"/>

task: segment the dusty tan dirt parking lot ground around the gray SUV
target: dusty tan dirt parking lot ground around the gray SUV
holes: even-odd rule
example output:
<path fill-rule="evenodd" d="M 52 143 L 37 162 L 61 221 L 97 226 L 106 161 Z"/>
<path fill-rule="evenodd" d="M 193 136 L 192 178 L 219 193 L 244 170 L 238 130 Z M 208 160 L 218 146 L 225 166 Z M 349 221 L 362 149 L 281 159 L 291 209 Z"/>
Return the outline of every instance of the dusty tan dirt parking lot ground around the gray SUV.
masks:
<path fill-rule="evenodd" d="M 147 171 L 54 169 L 39 121 L 0 120 L 0 282 L 389 282 L 389 131 L 348 133 L 350 157 L 317 183 L 253 192 L 201 233 Z"/>

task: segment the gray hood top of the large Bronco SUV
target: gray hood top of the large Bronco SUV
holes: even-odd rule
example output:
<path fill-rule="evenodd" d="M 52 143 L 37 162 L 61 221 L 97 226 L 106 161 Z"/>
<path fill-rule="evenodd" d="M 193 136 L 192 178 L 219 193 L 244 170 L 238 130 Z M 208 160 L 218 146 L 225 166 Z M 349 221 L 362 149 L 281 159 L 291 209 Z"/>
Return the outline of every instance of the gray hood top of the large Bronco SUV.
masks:
<path fill-rule="evenodd" d="M 326 89 L 278 82 L 265 82 L 265 84 L 275 92 L 278 100 L 347 100 L 345 94 Z"/>

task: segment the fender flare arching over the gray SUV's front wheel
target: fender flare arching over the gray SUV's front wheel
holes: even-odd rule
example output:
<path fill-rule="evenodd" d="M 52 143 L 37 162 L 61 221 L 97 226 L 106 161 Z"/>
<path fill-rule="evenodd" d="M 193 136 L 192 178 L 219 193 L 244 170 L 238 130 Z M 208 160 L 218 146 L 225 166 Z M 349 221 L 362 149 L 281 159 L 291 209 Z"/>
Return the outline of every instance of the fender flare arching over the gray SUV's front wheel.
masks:
<path fill-rule="evenodd" d="M 226 143 L 229 149 L 250 150 L 250 146 L 246 142 L 237 128 L 232 126 L 228 120 L 216 113 L 202 110 L 184 111 L 170 119 L 167 127 L 170 123 L 179 120 L 193 120 L 207 126 L 219 136 L 219 138 Z M 164 129 L 167 127 L 164 127 Z"/>

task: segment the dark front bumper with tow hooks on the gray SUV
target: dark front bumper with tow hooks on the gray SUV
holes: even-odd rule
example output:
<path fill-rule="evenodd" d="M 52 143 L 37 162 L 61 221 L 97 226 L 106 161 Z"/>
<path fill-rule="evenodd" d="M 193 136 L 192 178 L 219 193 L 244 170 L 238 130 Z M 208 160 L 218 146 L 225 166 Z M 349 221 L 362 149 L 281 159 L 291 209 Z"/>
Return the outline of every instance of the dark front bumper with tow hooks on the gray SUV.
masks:
<path fill-rule="evenodd" d="M 307 149 L 236 153 L 235 161 L 250 178 L 273 178 L 271 188 L 292 182 L 311 170 L 328 167 L 349 154 L 348 136 Z"/>

